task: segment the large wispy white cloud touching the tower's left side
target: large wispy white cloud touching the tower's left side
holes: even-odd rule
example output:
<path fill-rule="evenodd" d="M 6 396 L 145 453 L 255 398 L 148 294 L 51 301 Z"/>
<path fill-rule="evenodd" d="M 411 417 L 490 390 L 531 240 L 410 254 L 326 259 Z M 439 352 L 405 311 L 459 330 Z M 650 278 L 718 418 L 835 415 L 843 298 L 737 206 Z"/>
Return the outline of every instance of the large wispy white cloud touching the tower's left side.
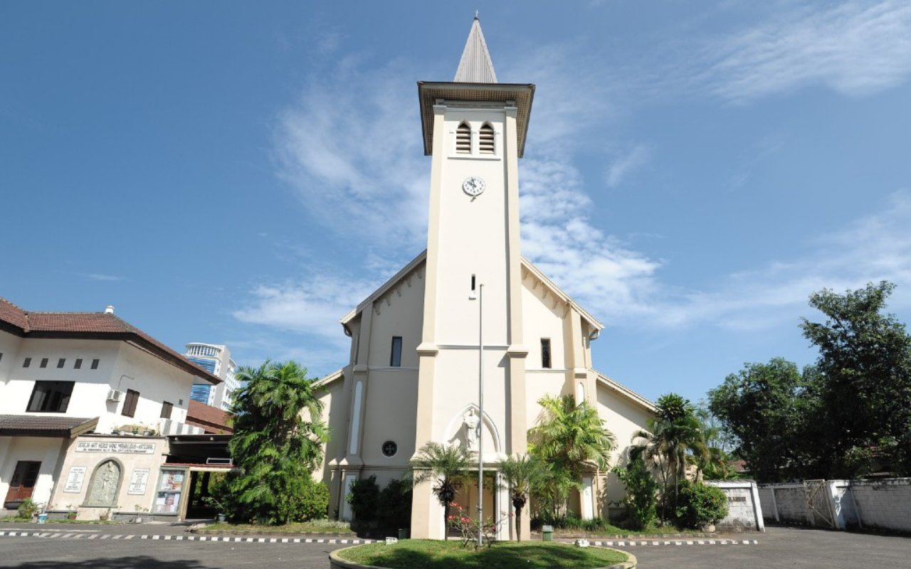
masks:
<path fill-rule="evenodd" d="M 370 72 L 360 65 L 350 57 L 312 77 L 281 113 L 278 174 L 324 229 L 378 247 L 420 247 L 429 163 L 420 147 L 417 74 L 396 63 Z"/>

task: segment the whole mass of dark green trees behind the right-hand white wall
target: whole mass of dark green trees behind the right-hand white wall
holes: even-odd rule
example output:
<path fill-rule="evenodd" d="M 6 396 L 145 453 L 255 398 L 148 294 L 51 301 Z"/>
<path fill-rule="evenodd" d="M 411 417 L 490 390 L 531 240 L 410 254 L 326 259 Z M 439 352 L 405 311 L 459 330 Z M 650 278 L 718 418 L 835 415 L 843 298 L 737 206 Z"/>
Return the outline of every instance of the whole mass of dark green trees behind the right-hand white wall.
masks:
<path fill-rule="evenodd" d="M 746 364 L 710 391 L 759 482 L 911 473 L 911 336 L 884 313 L 894 289 L 815 292 L 825 320 L 801 324 L 819 349 L 814 366 Z"/>

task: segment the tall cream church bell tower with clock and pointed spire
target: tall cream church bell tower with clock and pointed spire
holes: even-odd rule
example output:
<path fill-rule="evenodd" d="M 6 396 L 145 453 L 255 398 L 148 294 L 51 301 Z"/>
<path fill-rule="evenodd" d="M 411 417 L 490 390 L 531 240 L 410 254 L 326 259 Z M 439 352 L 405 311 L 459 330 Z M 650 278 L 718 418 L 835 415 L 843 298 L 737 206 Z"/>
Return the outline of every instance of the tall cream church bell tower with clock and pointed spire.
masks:
<path fill-rule="evenodd" d="M 518 158 L 535 86 L 497 83 L 477 17 L 454 81 L 417 86 L 432 165 L 415 449 L 451 443 L 483 374 L 481 444 L 494 469 L 503 454 L 527 450 Z M 437 506 L 415 489 L 415 537 L 443 536 Z"/>

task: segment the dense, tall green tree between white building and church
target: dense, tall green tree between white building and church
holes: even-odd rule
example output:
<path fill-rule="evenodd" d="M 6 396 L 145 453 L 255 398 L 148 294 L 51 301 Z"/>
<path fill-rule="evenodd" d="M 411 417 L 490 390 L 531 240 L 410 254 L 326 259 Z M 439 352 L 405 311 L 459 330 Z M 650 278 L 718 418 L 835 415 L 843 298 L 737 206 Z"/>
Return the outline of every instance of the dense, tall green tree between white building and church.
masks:
<path fill-rule="evenodd" d="M 239 468 L 226 486 L 232 520 L 288 523 L 325 515 L 329 493 L 312 480 L 329 432 L 307 371 L 294 361 L 237 371 L 228 449 Z"/>

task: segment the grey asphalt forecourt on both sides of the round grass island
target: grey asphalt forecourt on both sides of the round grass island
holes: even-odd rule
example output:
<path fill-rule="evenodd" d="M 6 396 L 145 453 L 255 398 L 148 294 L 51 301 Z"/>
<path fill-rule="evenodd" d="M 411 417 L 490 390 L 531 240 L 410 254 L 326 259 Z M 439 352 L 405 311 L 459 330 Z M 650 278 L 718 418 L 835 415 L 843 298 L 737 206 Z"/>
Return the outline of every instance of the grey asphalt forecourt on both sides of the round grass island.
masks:
<path fill-rule="evenodd" d="M 5 525 L 5 524 L 4 524 Z M 0 531 L 13 528 L 0 526 Z M 36 526 L 25 527 L 29 532 Z M 0 536 L 0 567 L 19 569 L 224 569 L 271 567 L 279 564 L 305 569 L 325 569 L 333 549 L 348 544 L 294 544 L 252 542 L 177 541 L 184 528 L 169 526 L 47 526 L 43 530 L 85 536 L 56 538 Z M 159 534 L 158 540 L 125 539 L 127 533 Z M 94 535 L 94 537 L 90 537 Z M 119 537 L 115 539 L 115 536 Z M 165 541 L 165 535 L 171 539 Z M 104 536 L 104 537 L 103 537 Z M 636 545 L 619 549 L 630 551 L 639 566 L 651 567 L 858 567 L 911 568 L 911 537 L 865 533 L 825 532 L 795 528 L 769 528 L 766 533 L 739 534 L 758 544 L 726 545 Z M 328 541 L 328 540 L 325 540 Z"/>

